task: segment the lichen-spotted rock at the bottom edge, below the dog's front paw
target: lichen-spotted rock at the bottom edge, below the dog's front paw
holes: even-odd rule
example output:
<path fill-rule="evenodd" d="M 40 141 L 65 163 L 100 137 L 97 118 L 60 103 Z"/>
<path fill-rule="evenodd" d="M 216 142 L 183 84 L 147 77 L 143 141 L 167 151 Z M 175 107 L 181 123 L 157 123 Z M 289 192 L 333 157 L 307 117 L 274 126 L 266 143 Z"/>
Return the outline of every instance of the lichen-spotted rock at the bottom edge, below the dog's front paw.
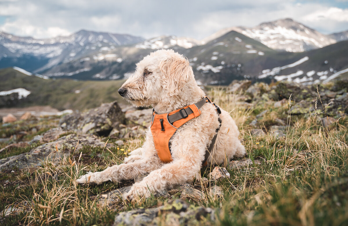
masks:
<path fill-rule="evenodd" d="M 118 213 L 113 225 L 197 225 L 202 217 L 214 221 L 214 211 L 211 208 L 192 206 L 183 200 L 170 200 L 163 206 L 155 208 L 140 208 Z"/>

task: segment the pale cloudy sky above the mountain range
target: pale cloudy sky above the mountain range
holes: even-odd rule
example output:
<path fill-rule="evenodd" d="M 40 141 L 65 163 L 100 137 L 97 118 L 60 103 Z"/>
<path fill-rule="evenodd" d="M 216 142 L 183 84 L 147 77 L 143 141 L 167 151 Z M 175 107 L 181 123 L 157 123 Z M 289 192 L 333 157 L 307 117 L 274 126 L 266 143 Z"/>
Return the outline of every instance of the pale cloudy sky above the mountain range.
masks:
<path fill-rule="evenodd" d="M 325 34 L 348 30 L 348 0 L 0 0 L 0 31 L 35 38 L 85 29 L 202 39 L 229 26 L 279 18 Z"/>

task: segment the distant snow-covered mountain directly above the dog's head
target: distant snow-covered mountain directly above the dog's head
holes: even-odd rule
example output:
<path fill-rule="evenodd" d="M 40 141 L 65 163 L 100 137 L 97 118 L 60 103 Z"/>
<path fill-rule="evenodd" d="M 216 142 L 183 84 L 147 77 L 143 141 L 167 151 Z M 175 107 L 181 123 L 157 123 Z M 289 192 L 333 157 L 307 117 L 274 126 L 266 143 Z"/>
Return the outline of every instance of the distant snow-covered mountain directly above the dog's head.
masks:
<path fill-rule="evenodd" d="M 176 36 L 159 36 L 156 38 L 148 39 L 142 43 L 137 44 L 135 47 L 140 49 L 167 49 L 173 46 L 180 46 L 185 49 L 192 48 L 193 46 L 202 45 L 202 41 L 188 37 L 176 37 Z"/>

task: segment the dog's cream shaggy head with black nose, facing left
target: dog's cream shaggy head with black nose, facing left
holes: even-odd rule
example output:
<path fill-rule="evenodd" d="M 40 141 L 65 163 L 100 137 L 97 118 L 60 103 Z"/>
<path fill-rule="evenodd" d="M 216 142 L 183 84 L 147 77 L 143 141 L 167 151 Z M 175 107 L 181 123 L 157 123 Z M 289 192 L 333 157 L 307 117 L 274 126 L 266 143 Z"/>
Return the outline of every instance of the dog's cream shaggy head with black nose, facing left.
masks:
<path fill-rule="evenodd" d="M 185 84 L 193 79 L 193 71 L 186 58 L 172 49 L 161 49 L 137 63 L 135 72 L 118 92 L 135 106 L 156 105 L 180 95 Z"/>

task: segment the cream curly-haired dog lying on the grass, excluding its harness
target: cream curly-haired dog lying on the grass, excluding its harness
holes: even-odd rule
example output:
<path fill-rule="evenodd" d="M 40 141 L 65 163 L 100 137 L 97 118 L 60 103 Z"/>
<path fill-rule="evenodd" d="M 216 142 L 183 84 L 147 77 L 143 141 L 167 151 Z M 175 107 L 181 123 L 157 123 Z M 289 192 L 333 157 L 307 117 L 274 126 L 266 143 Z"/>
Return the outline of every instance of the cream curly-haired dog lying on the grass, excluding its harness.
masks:
<path fill-rule="evenodd" d="M 119 93 L 135 106 L 153 106 L 158 114 L 181 109 L 200 101 L 205 95 L 197 85 L 189 61 L 173 50 L 157 50 L 136 64 L 135 73 L 119 89 Z M 149 173 L 135 183 L 124 196 L 129 200 L 149 197 L 151 193 L 199 177 L 207 147 L 219 127 L 213 104 L 204 104 L 201 115 L 182 125 L 171 139 L 173 161 L 164 164 L 158 157 L 150 127 L 144 145 L 133 150 L 124 163 L 108 167 L 102 172 L 89 172 L 77 180 L 79 184 L 120 182 Z M 228 112 L 221 110 L 221 128 L 208 164 L 220 164 L 245 155 L 238 140 L 239 131 Z M 150 117 L 150 116 L 149 116 Z"/>

